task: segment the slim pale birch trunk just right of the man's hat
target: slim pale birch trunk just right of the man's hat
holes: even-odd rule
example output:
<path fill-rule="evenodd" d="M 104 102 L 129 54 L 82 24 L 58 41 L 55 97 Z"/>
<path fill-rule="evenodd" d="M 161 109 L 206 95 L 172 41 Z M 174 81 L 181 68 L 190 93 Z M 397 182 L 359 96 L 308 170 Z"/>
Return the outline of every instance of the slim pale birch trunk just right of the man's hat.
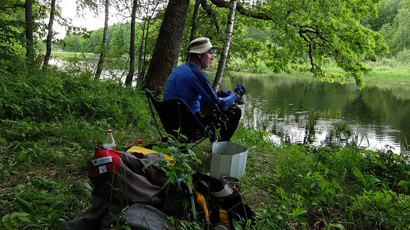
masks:
<path fill-rule="evenodd" d="M 234 21 L 235 21 L 236 0 L 232 0 L 231 3 L 232 5 L 229 9 L 227 31 L 225 33 L 225 42 L 223 44 L 221 57 L 219 58 L 218 69 L 216 71 L 215 80 L 214 80 L 214 83 L 212 84 L 212 88 L 214 90 L 219 89 L 219 85 L 221 83 L 222 76 L 223 76 L 223 71 L 225 70 L 225 65 L 227 64 L 229 47 L 231 45 L 232 31 L 234 28 Z"/>

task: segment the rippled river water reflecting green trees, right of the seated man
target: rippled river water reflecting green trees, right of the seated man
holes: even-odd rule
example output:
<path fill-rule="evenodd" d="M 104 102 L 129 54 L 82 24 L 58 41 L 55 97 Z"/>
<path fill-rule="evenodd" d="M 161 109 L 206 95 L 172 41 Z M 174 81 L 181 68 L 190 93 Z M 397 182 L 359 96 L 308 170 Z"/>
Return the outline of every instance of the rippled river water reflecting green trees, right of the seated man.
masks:
<path fill-rule="evenodd" d="M 410 144 L 410 84 L 354 81 L 329 83 L 303 75 L 242 76 L 247 101 L 241 123 L 281 140 L 407 152 Z M 233 89 L 229 78 L 221 89 Z M 407 144 L 407 141 L 408 144 Z"/>

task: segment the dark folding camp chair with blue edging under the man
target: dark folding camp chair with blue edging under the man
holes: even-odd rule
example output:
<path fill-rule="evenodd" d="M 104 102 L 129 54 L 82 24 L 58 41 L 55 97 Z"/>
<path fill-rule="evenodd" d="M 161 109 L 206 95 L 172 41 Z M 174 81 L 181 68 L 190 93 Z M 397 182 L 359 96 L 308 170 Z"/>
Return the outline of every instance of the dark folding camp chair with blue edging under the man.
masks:
<path fill-rule="evenodd" d="M 159 135 L 161 136 L 161 142 L 159 145 L 167 142 L 168 144 L 175 146 L 175 144 L 169 140 L 169 137 L 171 137 L 172 140 L 181 144 L 197 142 L 190 148 L 192 149 L 209 137 L 211 132 L 199 122 L 185 101 L 180 98 L 170 98 L 165 101 L 158 101 L 148 89 L 146 89 L 145 92 L 147 94 L 152 117 L 154 118 Z M 162 126 L 167 133 L 165 136 L 162 135 L 159 129 L 151 104 L 154 105 Z"/>

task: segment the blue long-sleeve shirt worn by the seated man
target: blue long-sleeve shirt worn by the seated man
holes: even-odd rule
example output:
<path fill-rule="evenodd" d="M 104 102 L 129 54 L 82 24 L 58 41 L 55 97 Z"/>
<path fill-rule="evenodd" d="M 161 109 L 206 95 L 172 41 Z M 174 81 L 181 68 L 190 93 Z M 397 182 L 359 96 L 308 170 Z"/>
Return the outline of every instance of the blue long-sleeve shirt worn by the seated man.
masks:
<path fill-rule="evenodd" d="M 219 99 L 207 75 L 193 62 L 187 62 L 174 68 L 168 77 L 163 100 L 170 98 L 181 98 L 194 113 L 200 111 L 201 98 L 217 111 L 224 112 L 238 99 L 238 95 Z"/>

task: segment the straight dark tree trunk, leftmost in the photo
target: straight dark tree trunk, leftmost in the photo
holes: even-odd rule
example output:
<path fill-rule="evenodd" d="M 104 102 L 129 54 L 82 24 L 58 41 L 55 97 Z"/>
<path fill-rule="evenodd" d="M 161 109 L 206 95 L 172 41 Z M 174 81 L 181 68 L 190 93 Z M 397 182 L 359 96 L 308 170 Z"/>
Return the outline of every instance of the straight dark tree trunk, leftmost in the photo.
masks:
<path fill-rule="evenodd" d="M 24 4 L 26 13 L 26 62 L 29 65 L 34 63 L 34 42 L 33 42 L 33 13 L 31 0 L 26 0 Z"/>

